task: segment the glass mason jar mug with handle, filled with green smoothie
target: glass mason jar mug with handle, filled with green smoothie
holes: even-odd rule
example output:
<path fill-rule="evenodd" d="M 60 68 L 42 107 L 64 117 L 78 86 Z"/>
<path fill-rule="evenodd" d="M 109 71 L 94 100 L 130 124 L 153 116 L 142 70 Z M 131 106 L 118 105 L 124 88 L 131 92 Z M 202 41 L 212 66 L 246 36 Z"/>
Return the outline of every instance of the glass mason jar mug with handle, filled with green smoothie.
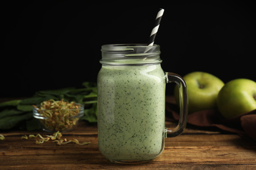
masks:
<path fill-rule="evenodd" d="M 106 44 L 98 73 L 98 148 L 116 163 L 143 163 L 163 152 L 165 137 L 186 127 L 188 96 L 181 76 L 161 69 L 160 46 Z M 165 127 L 165 84 L 180 92 L 180 120 Z"/>

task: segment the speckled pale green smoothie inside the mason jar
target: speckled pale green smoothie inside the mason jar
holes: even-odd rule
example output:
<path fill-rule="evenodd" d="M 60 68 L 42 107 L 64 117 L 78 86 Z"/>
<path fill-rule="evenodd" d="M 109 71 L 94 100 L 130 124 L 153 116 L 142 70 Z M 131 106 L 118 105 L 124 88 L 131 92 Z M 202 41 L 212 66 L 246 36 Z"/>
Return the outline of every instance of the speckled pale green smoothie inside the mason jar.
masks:
<path fill-rule="evenodd" d="M 165 73 L 155 65 L 102 65 L 98 147 L 112 161 L 153 160 L 165 137 Z"/>

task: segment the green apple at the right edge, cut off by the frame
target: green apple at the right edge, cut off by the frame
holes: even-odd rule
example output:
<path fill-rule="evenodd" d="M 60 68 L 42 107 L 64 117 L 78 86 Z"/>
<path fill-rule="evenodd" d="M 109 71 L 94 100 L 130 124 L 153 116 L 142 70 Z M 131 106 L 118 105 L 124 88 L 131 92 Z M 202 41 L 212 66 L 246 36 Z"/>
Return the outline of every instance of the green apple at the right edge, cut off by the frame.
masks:
<path fill-rule="evenodd" d="M 217 106 L 224 118 L 256 109 L 256 82 L 245 78 L 227 82 L 219 92 Z"/>

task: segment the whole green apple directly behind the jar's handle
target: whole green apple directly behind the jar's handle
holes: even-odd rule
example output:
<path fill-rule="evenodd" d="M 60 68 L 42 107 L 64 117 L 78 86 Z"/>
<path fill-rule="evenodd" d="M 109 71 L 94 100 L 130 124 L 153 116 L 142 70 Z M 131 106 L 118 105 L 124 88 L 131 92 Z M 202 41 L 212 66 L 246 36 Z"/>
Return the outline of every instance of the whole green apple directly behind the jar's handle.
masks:
<path fill-rule="evenodd" d="M 217 109 L 217 95 L 224 82 L 205 72 L 192 72 L 183 76 L 188 91 L 188 113 Z M 175 99 L 179 104 L 179 89 L 175 87 Z"/>

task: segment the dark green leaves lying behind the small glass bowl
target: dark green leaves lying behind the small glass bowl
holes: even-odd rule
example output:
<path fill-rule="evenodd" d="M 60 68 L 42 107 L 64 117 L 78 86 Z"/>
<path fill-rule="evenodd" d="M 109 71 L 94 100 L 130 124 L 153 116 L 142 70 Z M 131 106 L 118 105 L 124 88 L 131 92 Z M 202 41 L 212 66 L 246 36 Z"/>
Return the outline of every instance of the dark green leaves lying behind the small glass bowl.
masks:
<path fill-rule="evenodd" d="M 43 90 L 36 92 L 33 97 L 23 100 L 12 100 L 0 103 L 0 129 L 19 127 L 28 131 L 39 130 L 41 127 L 33 118 L 32 105 L 39 105 L 49 99 L 75 101 L 85 105 L 84 116 L 80 120 L 94 123 L 96 118 L 97 89 L 96 83 L 83 82 L 84 88 L 63 88 L 60 90 Z"/>

